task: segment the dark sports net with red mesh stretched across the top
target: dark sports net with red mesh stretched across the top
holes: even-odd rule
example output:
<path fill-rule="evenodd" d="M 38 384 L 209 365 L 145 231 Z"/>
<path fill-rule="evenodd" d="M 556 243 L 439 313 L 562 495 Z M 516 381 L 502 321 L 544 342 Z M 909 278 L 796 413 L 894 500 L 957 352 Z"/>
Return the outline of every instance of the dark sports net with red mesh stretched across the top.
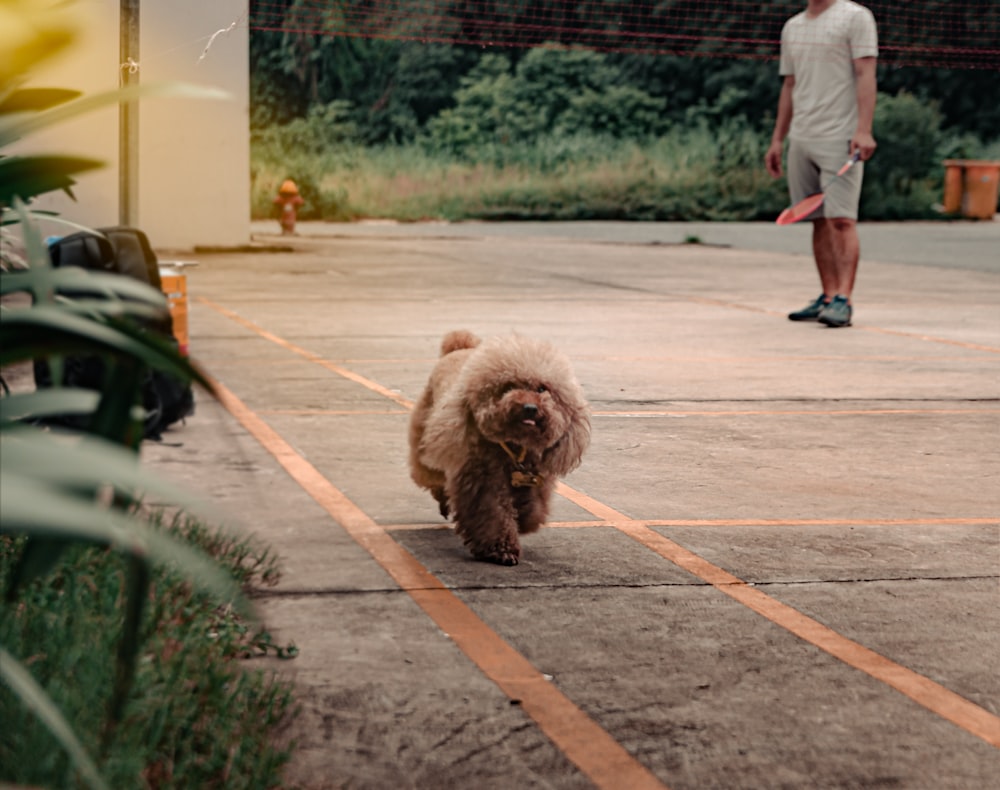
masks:
<path fill-rule="evenodd" d="M 1000 71 L 1000 1 L 870 0 L 880 62 Z M 803 0 L 250 0 L 250 28 L 481 47 L 774 59 Z"/>

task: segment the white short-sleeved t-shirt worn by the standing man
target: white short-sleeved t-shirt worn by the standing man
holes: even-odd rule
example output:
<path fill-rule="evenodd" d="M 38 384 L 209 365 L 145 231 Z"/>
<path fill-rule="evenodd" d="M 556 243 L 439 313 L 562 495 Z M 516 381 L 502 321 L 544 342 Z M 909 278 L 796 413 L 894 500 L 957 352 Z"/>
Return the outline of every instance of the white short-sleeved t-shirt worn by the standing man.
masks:
<path fill-rule="evenodd" d="M 858 124 L 853 61 L 877 56 L 875 17 L 852 0 L 835 0 L 816 17 L 803 11 L 789 19 L 779 67 L 782 77 L 795 75 L 788 136 L 850 140 Z"/>

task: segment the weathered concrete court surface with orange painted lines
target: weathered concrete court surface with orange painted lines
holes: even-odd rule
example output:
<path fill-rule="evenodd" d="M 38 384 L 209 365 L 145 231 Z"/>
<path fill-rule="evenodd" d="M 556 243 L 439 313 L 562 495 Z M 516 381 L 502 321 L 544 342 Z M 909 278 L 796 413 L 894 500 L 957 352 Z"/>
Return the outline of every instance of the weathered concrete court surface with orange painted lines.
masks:
<path fill-rule="evenodd" d="M 879 226 L 836 330 L 785 318 L 798 228 L 301 230 L 189 270 L 226 408 L 144 450 L 283 558 L 290 785 L 996 786 L 1000 227 Z M 591 401 L 514 568 L 408 477 L 453 328 L 551 340 Z"/>

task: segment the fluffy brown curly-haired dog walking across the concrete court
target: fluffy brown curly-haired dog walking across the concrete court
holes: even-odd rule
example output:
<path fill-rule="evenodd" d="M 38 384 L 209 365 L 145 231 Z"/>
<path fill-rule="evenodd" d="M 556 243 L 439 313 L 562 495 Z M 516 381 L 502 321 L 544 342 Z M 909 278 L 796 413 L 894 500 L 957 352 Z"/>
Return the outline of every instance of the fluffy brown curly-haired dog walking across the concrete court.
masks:
<path fill-rule="evenodd" d="M 518 535 L 545 523 L 589 443 L 587 401 L 550 344 L 450 332 L 410 419 L 410 474 L 472 556 L 516 565 Z"/>

